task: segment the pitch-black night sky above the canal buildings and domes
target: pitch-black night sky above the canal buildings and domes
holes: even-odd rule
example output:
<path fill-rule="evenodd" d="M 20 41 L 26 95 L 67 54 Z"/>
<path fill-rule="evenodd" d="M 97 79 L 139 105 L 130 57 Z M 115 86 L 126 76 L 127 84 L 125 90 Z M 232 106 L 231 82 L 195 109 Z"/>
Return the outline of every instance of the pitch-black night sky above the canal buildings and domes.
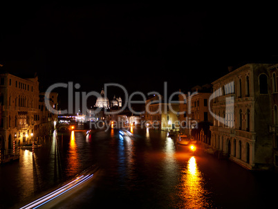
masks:
<path fill-rule="evenodd" d="M 169 93 L 187 90 L 220 78 L 228 66 L 277 63 L 274 8 L 1 4 L 0 64 L 10 73 L 37 72 L 42 90 L 68 81 L 86 92 L 100 92 L 109 82 L 129 94 L 163 93 L 163 82 Z M 113 94 L 122 93 L 111 89 L 108 96 Z"/>

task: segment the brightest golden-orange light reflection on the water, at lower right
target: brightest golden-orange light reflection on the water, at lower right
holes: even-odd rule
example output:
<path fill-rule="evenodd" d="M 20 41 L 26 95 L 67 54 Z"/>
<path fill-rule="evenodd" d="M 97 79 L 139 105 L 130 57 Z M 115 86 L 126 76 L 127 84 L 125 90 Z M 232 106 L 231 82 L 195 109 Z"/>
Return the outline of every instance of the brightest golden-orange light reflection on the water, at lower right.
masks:
<path fill-rule="evenodd" d="M 204 188 L 203 174 L 198 170 L 195 156 L 191 156 L 187 167 L 182 170 L 180 199 L 185 208 L 210 208 L 207 191 Z"/>

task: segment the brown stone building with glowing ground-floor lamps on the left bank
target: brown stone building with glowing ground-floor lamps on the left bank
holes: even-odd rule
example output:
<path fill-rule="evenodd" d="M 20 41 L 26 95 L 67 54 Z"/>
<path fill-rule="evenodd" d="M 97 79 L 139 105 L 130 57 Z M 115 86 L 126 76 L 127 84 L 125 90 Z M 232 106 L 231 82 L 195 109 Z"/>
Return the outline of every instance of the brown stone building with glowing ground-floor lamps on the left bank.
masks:
<path fill-rule="evenodd" d="M 57 109 L 57 93 L 52 93 Z M 49 114 L 43 100 L 39 99 L 39 82 L 34 78 L 20 78 L 10 73 L 0 73 L 0 149 L 32 143 L 49 134 L 48 124 L 57 120 Z M 45 127 L 42 131 L 41 127 Z"/>

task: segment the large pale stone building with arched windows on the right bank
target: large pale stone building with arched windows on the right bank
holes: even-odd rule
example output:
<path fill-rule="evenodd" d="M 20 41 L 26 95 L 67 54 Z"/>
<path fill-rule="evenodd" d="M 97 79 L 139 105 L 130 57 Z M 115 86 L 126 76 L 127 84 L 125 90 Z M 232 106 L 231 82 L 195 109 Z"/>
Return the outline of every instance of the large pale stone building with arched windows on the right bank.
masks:
<path fill-rule="evenodd" d="M 211 146 L 248 169 L 273 165 L 271 64 L 245 64 L 212 82 Z"/>

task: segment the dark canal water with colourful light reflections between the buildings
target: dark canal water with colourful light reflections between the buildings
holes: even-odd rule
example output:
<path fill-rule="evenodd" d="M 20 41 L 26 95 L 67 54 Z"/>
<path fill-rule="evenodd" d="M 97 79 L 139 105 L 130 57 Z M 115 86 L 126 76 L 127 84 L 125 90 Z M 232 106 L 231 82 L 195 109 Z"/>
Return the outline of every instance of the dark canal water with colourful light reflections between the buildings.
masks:
<path fill-rule="evenodd" d="M 0 167 L 0 208 L 18 208 L 71 179 L 100 167 L 79 201 L 62 208 L 268 208 L 276 204 L 278 175 L 251 172 L 197 149 L 176 145 L 165 131 L 133 128 L 53 133 L 33 154 Z"/>

